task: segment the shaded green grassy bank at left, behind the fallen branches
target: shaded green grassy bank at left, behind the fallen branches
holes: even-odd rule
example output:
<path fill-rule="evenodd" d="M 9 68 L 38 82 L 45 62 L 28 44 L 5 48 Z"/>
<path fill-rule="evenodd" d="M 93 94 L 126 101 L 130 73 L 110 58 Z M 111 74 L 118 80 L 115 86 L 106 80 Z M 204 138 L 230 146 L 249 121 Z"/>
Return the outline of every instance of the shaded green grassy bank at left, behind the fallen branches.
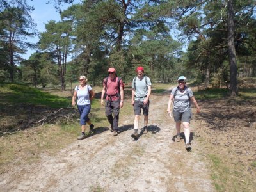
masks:
<path fill-rule="evenodd" d="M 2 104 L 35 104 L 51 108 L 70 106 L 70 99 L 41 92 L 22 84 L 0 83 L 0 103 Z"/>

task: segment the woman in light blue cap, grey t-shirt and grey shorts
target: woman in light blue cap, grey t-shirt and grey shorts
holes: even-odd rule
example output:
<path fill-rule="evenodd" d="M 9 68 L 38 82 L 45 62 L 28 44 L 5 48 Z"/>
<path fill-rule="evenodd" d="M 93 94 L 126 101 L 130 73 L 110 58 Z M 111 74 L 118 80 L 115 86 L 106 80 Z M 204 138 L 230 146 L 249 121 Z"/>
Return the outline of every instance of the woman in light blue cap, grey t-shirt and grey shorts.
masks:
<path fill-rule="evenodd" d="M 190 129 L 189 129 L 189 123 L 191 120 L 191 102 L 195 104 L 196 106 L 196 112 L 200 112 L 200 108 L 195 100 L 195 97 L 193 95 L 193 92 L 190 88 L 186 86 L 186 77 L 180 76 L 178 81 L 178 86 L 176 88 L 173 88 L 170 99 L 168 102 L 168 108 L 167 112 L 170 116 L 173 117 L 176 123 L 176 130 L 177 130 L 177 136 L 176 141 L 180 141 L 180 127 L 181 122 L 184 125 L 184 134 L 185 134 L 185 140 L 186 150 L 191 150 L 190 145 Z M 171 104 L 173 101 L 173 111 L 171 111 Z"/>

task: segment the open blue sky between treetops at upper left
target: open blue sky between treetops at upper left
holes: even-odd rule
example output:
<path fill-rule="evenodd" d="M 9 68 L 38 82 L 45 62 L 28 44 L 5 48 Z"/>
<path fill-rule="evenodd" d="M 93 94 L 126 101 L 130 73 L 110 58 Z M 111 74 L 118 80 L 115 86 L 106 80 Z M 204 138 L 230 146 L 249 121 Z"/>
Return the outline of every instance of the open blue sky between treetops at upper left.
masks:
<path fill-rule="evenodd" d="M 60 20 L 60 15 L 56 12 L 53 4 L 46 4 L 47 1 L 42 0 L 34 0 L 34 1 L 27 1 L 27 3 L 31 6 L 34 6 L 35 10 L 30 14 L 31 17 L 34 19 L 35 23 L 37 24 L 36 29 L 38 32 L 45 31 L 45 24 L 49 22 L 49 20 Z M 74 3 L 79 3 L 79 0 L 75 0 Z M 71 4 L 64 4 L 61 6 L 61 9 L 66 9 Z M 30 42 L 38 42 L 38 36 L 34 38 L 28 38 Z M 28 49 L 27 53 L 23 55 L 25 59 L 28 59 L 31 54 L 33 54 L 35 50 Z"/>

